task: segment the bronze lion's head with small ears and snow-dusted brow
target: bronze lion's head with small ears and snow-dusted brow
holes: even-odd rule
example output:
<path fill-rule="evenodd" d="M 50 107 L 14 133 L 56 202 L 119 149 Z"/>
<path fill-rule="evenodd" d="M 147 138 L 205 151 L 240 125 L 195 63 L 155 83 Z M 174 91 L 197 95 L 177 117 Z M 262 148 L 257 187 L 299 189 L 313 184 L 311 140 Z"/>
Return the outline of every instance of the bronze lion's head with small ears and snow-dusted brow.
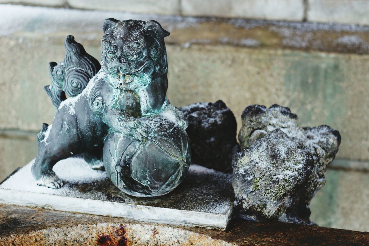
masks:
<path fill-rule="evenodd" d="M 101 67 L 114 86 L 136 90 L 157 79 L 166 81 L 164 37 L 169 32 L 158 22 L 109 18 L 104 21 L 103 31 Z"/>

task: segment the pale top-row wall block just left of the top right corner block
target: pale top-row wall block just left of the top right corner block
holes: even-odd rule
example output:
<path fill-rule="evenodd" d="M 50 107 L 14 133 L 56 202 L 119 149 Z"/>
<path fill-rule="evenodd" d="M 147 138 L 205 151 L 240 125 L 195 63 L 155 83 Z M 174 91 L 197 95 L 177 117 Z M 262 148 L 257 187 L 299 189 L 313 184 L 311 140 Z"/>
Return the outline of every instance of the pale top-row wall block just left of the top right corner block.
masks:
<path fill-rule="evenodd" d="M 268 20 L 302 21 L 302 0 L 182 0 L 182 14 L 188 16 L 217 16 L 260 18 Z"/>

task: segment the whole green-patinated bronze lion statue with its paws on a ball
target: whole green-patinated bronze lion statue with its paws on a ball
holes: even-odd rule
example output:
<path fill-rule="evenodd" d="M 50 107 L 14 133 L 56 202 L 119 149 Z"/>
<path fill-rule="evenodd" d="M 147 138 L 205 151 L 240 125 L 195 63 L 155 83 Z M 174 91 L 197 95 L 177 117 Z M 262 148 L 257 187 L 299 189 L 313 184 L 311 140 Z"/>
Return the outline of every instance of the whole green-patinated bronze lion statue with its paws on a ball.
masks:
<path fill-rule="evenodd" d="M 50 63 L 45 90 L 58 110 L 38 135 L 32 174 L 39 185 L 59 188 L 52 167 L 82 155 L 127 194 L 166 194 L 190 164 L 187 122 L 166 98 L 169 33 L 156 21 L 115 19 L 105 20 L 103 31 L 101 69 L 72 36 L 64 61 Z M 68 99 L 67 90 L 74 93 Z"/>

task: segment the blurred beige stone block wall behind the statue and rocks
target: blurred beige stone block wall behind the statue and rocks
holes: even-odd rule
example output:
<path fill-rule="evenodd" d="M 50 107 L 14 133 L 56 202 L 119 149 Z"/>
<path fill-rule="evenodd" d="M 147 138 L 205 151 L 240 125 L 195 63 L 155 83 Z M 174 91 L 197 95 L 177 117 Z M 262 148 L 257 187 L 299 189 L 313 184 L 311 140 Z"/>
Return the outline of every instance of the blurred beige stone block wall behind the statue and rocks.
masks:
<path fill-rule="evenodd" d="M 99 59 L 105 18 L 155 19 L 171 33 L 173 105 L 222 99 L 239 129 L 247 105 L 278 103 L 302 126 L 339 130 L 337 161 L 313 200 L 313 220 L 369 230 L 362 212 L 369 201 L 362 182 L 369 180 L 369 0 L 0 3 L 11 3 L 0 4 L 0 180 L 36 156 L 41 123 L 52 123 L 55 108 L 42 88 L 50 83 L 48 62 L 63 60 L 66 35 Z"/>

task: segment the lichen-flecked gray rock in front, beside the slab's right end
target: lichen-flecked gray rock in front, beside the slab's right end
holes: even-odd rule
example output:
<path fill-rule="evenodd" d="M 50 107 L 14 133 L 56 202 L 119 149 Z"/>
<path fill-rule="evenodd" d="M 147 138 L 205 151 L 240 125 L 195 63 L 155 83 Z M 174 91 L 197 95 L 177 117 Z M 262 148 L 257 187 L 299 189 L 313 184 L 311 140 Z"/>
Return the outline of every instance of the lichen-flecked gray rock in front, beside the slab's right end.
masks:
<path fill-rule="evenodd" d="M 278 219 L 299 201 L 313 165 L 311 154 L 279 129 L 235 154 L 232 185 L 241 217 Z"/>

